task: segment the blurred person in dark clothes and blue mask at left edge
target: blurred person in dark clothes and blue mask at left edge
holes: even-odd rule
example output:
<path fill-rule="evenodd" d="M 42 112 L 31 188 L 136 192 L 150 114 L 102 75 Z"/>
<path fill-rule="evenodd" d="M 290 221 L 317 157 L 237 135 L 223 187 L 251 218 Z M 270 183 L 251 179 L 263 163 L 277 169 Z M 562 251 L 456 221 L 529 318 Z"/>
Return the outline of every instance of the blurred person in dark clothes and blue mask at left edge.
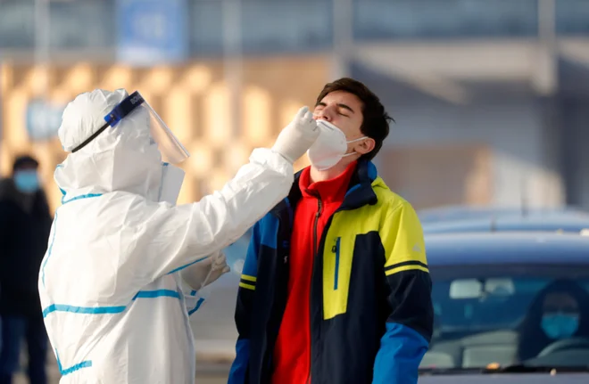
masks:
<path fill-rule="evenodd" d="M 29 379 L 46 383 L 47 335 L 37 290 L 52 217 L 30 156 L 14 161 L 12 177 L 0 182 L 0 384 L 19 369 L 21 341 L 27 341 Z"/>

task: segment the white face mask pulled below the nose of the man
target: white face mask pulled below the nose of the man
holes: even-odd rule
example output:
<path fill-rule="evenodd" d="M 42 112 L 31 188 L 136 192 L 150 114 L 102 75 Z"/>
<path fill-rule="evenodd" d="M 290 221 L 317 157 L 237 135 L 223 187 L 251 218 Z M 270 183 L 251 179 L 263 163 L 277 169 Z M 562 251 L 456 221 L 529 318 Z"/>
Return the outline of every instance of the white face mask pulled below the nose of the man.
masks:
<path fill-rule="evenodd" d="M 344 132 L 326 120 L 317 120 L 317 127 L 319 127 L 319 137 L 311 145 L 307 156 L 311 161 L 311 166 L 319 171 L 326 171 L 347 156 L 352 156 L 356 151 L 345 153 L 348 151 L 349 143 L 360 142 L 368 138 L 362 136 L 361 138 L 347 141 Z"/>

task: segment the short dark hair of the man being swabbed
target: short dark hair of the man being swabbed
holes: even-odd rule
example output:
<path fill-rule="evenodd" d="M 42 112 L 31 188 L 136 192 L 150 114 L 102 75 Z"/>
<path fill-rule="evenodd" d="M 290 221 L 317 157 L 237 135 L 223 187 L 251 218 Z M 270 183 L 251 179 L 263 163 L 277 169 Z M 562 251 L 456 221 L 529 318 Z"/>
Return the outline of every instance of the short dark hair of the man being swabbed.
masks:
<path fill-rule="evenodd" d="M 380 99 L 378 99 L 378 96 L 370 91 L 368 86 L 364 86 L 360 81 L 354 80 L 353 78 L 340 78 L 326 84 L 319 93 L 315 105 L 318 105 L 327 94 L 336 91 L 355 94 L 362 102 L 363 120 L 360 130 L 362 134 L 374 139 L 375 146 L 372 151 L 363 154 L 361 159 L 374 159 L 388 135 L 389 121 L 394 121 L 394 119 L 386 113 L 385 107 L 380 102 Z"/>

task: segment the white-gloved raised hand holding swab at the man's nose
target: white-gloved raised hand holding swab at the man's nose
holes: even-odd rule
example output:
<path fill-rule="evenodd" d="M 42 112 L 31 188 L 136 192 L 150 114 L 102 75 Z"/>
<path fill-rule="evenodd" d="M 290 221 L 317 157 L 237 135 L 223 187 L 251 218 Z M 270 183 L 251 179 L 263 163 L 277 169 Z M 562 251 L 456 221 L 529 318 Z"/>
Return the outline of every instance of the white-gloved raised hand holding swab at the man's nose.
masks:
<path fill-rule="evenodd" d="M 319 128 L 311 110 L 303 107 L 296 112 L 293 121 L 280 132 L 272 151 L 280 153 L 292 164 L 311 148 L 318 136 Z"/>

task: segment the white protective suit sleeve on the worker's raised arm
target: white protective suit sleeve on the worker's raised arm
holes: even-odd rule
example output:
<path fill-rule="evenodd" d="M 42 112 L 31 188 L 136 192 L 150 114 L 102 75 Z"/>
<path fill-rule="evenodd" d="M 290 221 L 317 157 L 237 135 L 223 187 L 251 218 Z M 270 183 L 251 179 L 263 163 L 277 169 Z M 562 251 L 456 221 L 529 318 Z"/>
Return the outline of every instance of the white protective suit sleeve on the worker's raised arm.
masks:
<path fill-rule="evenodd" d="M 112 233 L 92 244 L 96 253 L 117 255 L 104 261 L 106 270 L 116 270 L 116 281 L 109 275 L 105 284 L 121 292 L 141 290 L 205 260 L 243 236 L 292 184 L 293 166 L 282 155 L 256 149 L 220 191 L 192 204 L 171 207 L 126 192 L 107 194 L 101 217 L 110 219 Z"/>

